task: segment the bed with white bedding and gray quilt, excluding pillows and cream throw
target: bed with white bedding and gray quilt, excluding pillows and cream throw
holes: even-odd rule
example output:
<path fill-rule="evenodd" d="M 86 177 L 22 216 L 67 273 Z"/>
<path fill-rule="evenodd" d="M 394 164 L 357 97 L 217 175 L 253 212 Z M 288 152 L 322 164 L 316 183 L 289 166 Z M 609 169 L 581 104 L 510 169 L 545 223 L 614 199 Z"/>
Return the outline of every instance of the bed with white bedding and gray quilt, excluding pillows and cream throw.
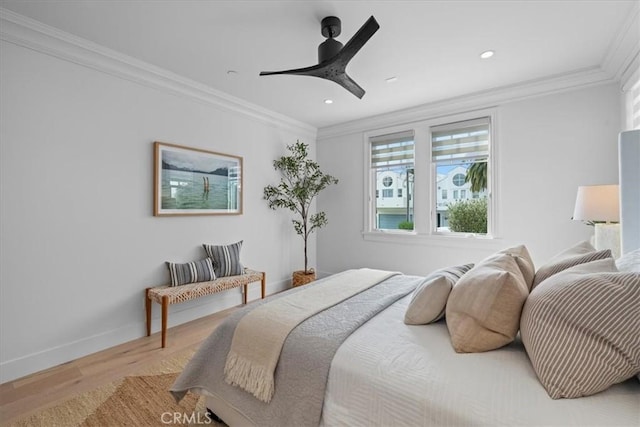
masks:
<path fill-rule="evenodd" d="M 627 277 L 640 286 L 640 274 Z M 637 377 L 587 397 L 552 399 L 519 334 L 499 349 L 457 353 L 445 319 L 405 324 L 425 278 L 391 272 L 291 330 L 268 403 L 226 381 L 225 361 L 243 318 L 278 299 L 307 301 L 306 295 L 313 296 L 315 288 L 319 295 L 331 281 L 321 279 L 232 314 L 176 380 L 174 396 L 207 396 L 207 407 L 230 426 L 640 425 Z M 640 313 L 634 316 L 640 319 Z M 640 338 L 631 346 L 640 347 Z M 639 363 L 632 362 L 636 373 Z"/>

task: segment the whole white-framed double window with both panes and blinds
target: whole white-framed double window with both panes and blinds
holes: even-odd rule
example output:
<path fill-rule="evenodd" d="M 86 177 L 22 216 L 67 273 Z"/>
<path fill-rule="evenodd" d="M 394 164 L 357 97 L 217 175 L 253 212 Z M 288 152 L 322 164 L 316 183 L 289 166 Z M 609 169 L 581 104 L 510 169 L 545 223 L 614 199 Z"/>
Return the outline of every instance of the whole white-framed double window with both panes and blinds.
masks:
<path fill-rule="evenodd" d="M 494 115 L 484 110 L 365 134 L 365 238 L 495 237 Z M 380 190 L 393 197 L 376 198 Z"/>

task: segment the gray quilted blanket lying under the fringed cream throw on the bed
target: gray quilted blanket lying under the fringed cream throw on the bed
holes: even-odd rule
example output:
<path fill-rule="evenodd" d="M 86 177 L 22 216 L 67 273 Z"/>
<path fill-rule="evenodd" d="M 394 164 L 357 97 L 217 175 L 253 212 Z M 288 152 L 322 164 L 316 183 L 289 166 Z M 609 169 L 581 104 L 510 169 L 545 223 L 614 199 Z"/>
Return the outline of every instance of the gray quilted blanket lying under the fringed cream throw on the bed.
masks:
<path fill-rule="evenodd" d="M 224 399 L 260 426 L 317 426 L 331 360 L 340 344 L 371 317 L 413 291 L 423 279 L 393 276 L 294 328 L 282 348 L 275 372 L 275 393 L 268 404 L 225 382 L 224 365 L 235 327 L 245 314 L 264 302 L 304 292 L 315 284 L 291 289 L 230 315 L 202 343 L 171 392 L 179 401 L 190 389 L 204 390 Z"/>

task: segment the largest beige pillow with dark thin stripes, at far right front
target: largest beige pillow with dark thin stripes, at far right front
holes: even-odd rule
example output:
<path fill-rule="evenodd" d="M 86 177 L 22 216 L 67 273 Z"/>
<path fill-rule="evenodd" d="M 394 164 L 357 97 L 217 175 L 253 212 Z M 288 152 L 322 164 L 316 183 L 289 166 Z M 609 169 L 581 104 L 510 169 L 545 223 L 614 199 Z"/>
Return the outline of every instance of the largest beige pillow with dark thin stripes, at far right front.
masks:
<path fill-rule="evenodd" d="M 640 372 L 640 273 L 599 260 L 550 277 L 529 295 L 520 334 L 553 399 L 589 396 L 631 378 Z"/>

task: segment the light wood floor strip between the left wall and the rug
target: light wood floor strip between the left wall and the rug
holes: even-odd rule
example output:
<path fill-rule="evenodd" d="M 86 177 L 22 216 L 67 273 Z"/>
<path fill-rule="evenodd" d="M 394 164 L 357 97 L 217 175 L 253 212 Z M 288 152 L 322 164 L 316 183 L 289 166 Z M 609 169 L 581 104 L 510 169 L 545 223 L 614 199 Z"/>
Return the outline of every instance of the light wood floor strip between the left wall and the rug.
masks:
<path fill-rule="evenodd" d="M 167 347 L 160 334 L 121 344 L 0 385 L 0 424 L 60 403 L 74 394 L 93 390 L 136 370 L 197 346 L 237 307 L 203 317 L 167 331 Z"/>

